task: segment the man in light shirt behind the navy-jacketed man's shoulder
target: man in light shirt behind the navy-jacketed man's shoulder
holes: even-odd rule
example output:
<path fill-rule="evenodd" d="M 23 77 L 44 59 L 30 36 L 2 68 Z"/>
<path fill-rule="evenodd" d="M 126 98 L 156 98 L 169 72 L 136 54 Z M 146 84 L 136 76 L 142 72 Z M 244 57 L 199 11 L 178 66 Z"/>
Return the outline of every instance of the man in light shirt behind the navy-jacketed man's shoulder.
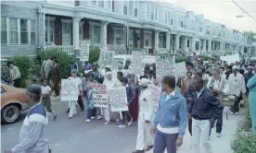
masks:
<path fill-rule="evenodd" d="M 208 81 L 207 88 L 211 89 L 211 92 L 216 98 L 219 98 L 223 94 L 225 78 L 221 76 L 219 67 L 213 67 L 211 74 L 212 76 Z M 216 120 L 216 136 L 220 137 L 223 129 L 223 114 Z"/>

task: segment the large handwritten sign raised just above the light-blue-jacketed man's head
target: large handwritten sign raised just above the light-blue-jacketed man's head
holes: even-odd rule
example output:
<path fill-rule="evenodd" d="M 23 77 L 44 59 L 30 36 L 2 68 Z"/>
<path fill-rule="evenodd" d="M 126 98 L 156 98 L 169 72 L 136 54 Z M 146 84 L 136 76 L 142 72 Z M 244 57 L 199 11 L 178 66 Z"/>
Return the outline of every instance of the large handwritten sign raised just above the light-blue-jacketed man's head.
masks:
<path fill-rule="evenodd" d="M 173 55 L 160 55 L 156 58 L 156 76 L 175 76 L 175 59 Z"/>

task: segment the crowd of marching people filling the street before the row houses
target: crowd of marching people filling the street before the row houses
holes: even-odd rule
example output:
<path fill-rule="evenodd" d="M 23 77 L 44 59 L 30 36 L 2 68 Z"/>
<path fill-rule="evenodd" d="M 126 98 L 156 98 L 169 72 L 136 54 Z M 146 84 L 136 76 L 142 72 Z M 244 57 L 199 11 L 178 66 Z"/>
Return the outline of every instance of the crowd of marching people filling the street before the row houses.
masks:
<path fill-rule="evenodd" d="M 55 77 L 50 79 L 54 82 L 55 96 L 58 96 L 61 75 L 58 61 L 56 59 L 51 61 L 53 64 L 45 61 L 44 65 L 52 65 L 55 69 Z M 78 65 L 73 63 L 68 67 L 68 79 L 77 83 L 78 86 L 75 88 L 79 91 L 78 100 L 69 102 L 68 117 L 72 118 L 77 114 L 78 105 L 81 112 L 87 110 L 86 123 L 94 119 L 104 119 L 105 124 L 111 124 L 110 107 L 102 109 L 94 107 L 93 85 L 103 84 L 107 89 L 125 87 L 129 111 L 122 112 L 122 117 L 120 113 L 115 112 L 112 116 L 115 116 L 116 122 L 119 123 L 118 128 L 125 128 L 134 121 L 138 122 L 136 147 L 133 153 L 143 153 L 152 148 L 154 153 L 162 153 L 165 149 L 168 153 L 176 153 L 177 147 L 183 144 L 186 126 L 192 136 L 191 152 L 210 153 L 211 128 L 216 127 L 217 137 L 221 137 L 222 134 L 226 95 L 227 99 L 232 101 L 228 111 L 236 115 L 239 114 L 243 100 L 249 96 L 252 128 L 254 130 L 256 128 L 256 63 L 253 61 L 240 61 L 228 65 L 225 61 L 203 63 L 195 57 L 192 63 L 186 63 L 186 76 L 179 78 L 175 76 L 158 78 L 155 65 L 147 65 L 144 76 L 135 76 L 129 69 L 124 69 L 122 63 L 118 64 L 117 70 L 106 67 L 103 74 L 97 66 L 96 63 L 93 65 L 86 63 L 84 65 L 86 73 L 79 72 Z M 56 120 L 57 114 L 51 109 L 49 96 L 52 90 L 47 85 L 48 81 L 47 76 L 42 79 L 40 95 L 46 110 L 51 112 L 53 119 Z M 149 89 L 150 86 L 161 90 L 157 111 L 153 110 L 154 96 Z M 37 90 L 38 88 L 34 87 L 30 88 L 29 92 L 37 95 L 39 94 Z M 85 107 L 83 103 L 86 103 Z M 20 144 L 13 150 L 21 150 Z"/>

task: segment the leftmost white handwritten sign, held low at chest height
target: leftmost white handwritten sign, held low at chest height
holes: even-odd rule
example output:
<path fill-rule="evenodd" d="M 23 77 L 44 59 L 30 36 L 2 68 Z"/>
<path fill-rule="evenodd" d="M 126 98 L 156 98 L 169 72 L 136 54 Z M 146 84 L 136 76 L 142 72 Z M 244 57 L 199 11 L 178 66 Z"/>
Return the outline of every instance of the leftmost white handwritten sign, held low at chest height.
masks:
<path fill-rule="evenodd" d="M 69 79 L 61 79 L 61 100 L 78 100 L 78 84 Z"/>

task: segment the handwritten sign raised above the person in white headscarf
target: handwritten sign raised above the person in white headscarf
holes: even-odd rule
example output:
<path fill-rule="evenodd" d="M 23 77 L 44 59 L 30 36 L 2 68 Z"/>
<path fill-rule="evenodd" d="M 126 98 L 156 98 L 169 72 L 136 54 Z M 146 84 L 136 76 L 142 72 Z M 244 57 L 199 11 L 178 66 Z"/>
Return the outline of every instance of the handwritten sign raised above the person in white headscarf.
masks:
<path fill-rule="evenodd" d="M 104 68 L 113 65 L 114 52 L 101 50 L 99 54 L 99 66 Z"/>

